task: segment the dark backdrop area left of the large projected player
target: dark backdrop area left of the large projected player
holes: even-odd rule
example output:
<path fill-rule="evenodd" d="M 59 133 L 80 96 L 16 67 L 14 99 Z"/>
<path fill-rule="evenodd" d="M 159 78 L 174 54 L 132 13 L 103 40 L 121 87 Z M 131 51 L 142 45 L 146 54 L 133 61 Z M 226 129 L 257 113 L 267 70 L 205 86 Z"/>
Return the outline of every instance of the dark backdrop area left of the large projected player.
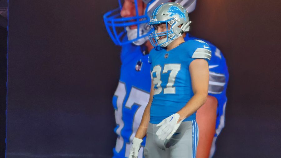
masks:
<path fill-rule="evenodd" d="M 112 155 L 120 48 L 108 3 L 9 1 L 7 157 Z"/>

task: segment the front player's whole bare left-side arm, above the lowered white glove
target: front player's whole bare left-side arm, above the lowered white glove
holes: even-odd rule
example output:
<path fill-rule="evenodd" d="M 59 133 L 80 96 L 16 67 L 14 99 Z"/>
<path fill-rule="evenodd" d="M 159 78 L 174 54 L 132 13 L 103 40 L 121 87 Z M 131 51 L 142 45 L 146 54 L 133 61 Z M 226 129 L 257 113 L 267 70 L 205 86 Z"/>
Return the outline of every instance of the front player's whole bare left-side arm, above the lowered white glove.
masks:
<path fill-rule="evenodd" d="M 145 107 L 145 110 L 143 112 L 142 118 L 141 118 L 141 124 L 136 132 L 136 138 L 143 139 L 143 137 L 146 135 L 148 123 L 150 120 L 150 106 L 153 100 L 154 95 L 154 84 L 151 81 L 151 88 L 150 88 L 150 96 L 149 101 L 147 103 L 147 106 Z"/>

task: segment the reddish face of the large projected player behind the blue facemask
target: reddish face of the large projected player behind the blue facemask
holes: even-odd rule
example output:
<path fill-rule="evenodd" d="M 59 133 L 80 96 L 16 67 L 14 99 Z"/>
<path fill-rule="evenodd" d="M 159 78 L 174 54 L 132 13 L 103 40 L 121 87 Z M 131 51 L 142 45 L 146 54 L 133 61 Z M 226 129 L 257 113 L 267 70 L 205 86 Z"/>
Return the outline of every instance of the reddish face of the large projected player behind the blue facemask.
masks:
<path fill-rule="evenodd" d="M 142 0 L 125 0 L 120 13 L 121 17 L 135 17 L 137 15 L 136 6 L 138 10 L 138 15 L 143 15 L 146 4 L 142 2 Z M 131 25 L 129 27 L 130 29 L 136 29 L 137 25 Z"/>

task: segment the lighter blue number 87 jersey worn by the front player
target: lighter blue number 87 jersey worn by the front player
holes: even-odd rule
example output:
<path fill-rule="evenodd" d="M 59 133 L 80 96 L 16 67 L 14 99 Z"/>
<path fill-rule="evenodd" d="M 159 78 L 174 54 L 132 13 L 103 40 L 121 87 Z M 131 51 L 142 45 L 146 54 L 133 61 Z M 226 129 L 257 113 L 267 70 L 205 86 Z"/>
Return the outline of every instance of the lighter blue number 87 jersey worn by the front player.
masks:
<path fill-rule="evenodd" d="M 189 65 L 195 59 L 210 60 L 210 46 L 201 40 L 188 40 L 172 50 L 156 47 L 149 53 L 154 84 L 150 123 L 158 124 L 178 112 L 194 95 Z M 196 113 L 196 112 L 195 112 Z M 195 113 L 184 121 L 195 120 Z"/>

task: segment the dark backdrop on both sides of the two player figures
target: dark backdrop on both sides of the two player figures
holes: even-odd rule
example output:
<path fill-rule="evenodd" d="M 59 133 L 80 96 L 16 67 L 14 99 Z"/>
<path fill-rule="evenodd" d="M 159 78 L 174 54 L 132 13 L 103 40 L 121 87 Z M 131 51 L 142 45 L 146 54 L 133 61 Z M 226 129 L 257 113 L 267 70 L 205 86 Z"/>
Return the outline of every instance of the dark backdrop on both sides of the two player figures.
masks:
<path fill-rule="evenodd" d="M 9 0 L 8 158 L 112 155 L 121 48 L 102 15 L 117 5 Z M 190 14 L 190 33 L 219 47 L 229 67 L 215 158 L 281 157 L 280 8 L 279 0 L 199 0 Z"/>

